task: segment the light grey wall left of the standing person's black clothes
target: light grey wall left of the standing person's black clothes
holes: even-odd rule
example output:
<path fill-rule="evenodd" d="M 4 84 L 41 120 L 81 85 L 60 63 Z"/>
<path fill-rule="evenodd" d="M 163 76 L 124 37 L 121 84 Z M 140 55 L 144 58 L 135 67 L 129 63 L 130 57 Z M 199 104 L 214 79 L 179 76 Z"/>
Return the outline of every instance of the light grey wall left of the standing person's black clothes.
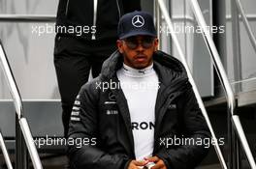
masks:
<path fill-rule="evenodd" d="M 55 14 L 56 7 L 57 0 L 0 0 L 0 14 Z M 33 27 L 46 24 L 0 22 L 0 39 L 23 99 L 59 98 L 52 57 L 54 33 L 33 33 Z M 10 99 L 2 71 L 0 79 L 0 99 Z"/>

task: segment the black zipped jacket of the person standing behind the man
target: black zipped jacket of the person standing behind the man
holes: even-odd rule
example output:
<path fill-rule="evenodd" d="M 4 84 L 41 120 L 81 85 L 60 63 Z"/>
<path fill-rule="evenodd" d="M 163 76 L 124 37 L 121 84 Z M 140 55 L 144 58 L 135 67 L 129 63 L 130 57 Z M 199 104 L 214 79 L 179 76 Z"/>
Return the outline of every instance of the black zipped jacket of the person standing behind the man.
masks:
<path fill-rule="evenodd" d="M 97 2 L 96 11 L 94 2 Z M 59 0 L 56 32 L 62 36 L 91 40 L 95 29 L 92 26 L 96 26 L 96 40 L 116 40 L 120 16 L 136 10 L 141 10 L 141 0 Z M 61 26 L 69 28 L 69 31 L 63 31 Z M 82 34 L 74 33 L 72 27 L 80 31 L 80 26 L 84 28 Z"/>

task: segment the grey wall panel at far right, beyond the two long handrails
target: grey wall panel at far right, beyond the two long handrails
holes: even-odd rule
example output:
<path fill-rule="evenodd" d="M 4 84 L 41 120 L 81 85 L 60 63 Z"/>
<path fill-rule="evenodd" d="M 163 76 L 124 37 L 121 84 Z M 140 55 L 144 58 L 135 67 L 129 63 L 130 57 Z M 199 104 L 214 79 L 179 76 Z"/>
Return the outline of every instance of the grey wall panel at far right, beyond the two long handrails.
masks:
<path fill-rule="evenodd" d="M 233 84 L 234 87 L 235 84 L 241 85 L 241 92 L 249 92 L 256 89 L 256 52 L 254 51 L 249 38 L 248 34 L 245 31 L 244 25 L 242 22 L 240 22 L 240 61 L 241 61 L 241 77 L 238 77 L 238 74 L 234 73 L 235 70 L 238 68 L 236 67 L 236 64 L 234 64 L 234 55 L 233 55 L 233 34 L 232 34 L 232 24 L 231 24 L 231 4 L 230 0 L 226 1 L 226 24 L 227 24 L 227 31 L 226 31 L 226 37 L 227 37 L 227 71 L 228 76 L 230 79 L 230 82 Z M 249 19 L 249 23 L 251 26 L 251 29 L 256 35 L 256 1 L 254 0 L 240 0 L 241 5 L 243 6 L 245 14 L 253 15 L 254 17 L 251 17 Z M 239 93 L 240 91 L 236 91 Z"/>

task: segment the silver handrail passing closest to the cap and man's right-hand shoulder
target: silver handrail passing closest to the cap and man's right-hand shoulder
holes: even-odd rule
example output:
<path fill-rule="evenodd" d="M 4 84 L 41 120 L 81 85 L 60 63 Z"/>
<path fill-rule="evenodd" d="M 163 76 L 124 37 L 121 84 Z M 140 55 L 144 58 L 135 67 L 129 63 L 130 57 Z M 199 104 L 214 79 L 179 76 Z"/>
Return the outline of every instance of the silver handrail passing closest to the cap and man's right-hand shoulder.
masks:
<path fill-rule="evenodd" d="M 181 46 L 180 46 L 179 42 L 177 41 L 177 37 L 176 37 L 175 31 L 174 31 L 174 27 L 173 27 L 173 23 L 172 23 L 171 17 L 170 17 L 170 15 L 168 14 L 168 11 L 167 11 L 167 9 L 166 9 L 166 6 L 165 6 L 163 0 L 158 0 L 158 4 L 159 4 L 159 7 L 160 7 L 160 9 L 161 9 L 161 11 L 162 11 L 162 13 L 163 13 L 163 15 L 164 15 L 164 18 L 165 18 L 165 20 L 166 20 L 166 22 L 167 22 L 167 25 L 168 25 L 168 27 L 169 27 L 169 29 L 170 29 L 170 32 L 172 33 L 173 41 L 174 41 L 175 44 L 176 44 L 177 51 L 178 51 L 178 54 L 179 54 L 179 56 L 180 56 L 181 62 L 182 62 L 182 64 L 183 64 L 184 67 L 185 67 L 185 70 L 186 70 L 186 72 L 187 72 L 189 81 L 190 81 L 190 83 L 191 83 L 191 85 L 192 85 L 192 88 L 193 88 L 193 90 L 194 90 L 196 99 L 197 99 L 197 101 L 198 101 L 199 107 L 201 108 L 202 113 L 203 113 L 203 115 L 204 115 L 204 117 L 205 117 L 205 119 L 206 119 L 206 122 L 207 122 L 207 124 L 208 124 L 208 128 L 209 128 L 209 131 L 210 131 L 210 133 L 211 133 L 211 136 L 212 136 L 212 138 L 213 138 L 214 140 L 217 140 L 217 138 L 216 138 L 216 136 L 215 136 L 215 133 L 214 133 L 214 131 L 213 131 L 213 128 L 211 127 L 210 121 L 209 121 L 209 119 L 208 119 L 208 113 L 207 113 L 206 107 L 205 107 L 205 105 L 204 105 L 204 102 L 203 102 L 203 100 L 202 100 L 202 98 L 201 98 L 201 96 L 200 96 L 199 90 L 197 89 L 197 86 L 196 86 L 196 83 L 195 83 L 195 81 L 194 81 L 194 79 L 193 79 L 192 73 L 191 73 L 191 71 L 189 70 L 189 67 L 188 67 L 188 64 L 187 64 L 187 62 L 186 62 L 184 53 L 183 53 L 183 51 L 182 51 L 182 49 L 181 49 Z M 218 145 L 218 144 L 214 144 L 214 148 L 215 148 L 216 154 L 218 155 L 218 158 L 219 158 L 219 161 L 220 161 L 220 163 L 221 163 L 222 168 L 227 169 L 227 165 L 226 165 L 225 159 L 224 159 L 224 157 L 223 157 L 223 155 L 222 155 L 222 153 L 221 153 L 221 151 L 220 151 L 219 145 Z"/>

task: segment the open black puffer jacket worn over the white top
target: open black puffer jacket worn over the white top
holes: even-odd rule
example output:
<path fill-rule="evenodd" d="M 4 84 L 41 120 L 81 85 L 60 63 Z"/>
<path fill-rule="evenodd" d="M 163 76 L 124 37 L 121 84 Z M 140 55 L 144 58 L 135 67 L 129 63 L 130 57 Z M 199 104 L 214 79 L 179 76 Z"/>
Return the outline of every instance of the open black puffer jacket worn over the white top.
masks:
<path fill-rule="evenodd" d="M 160 51 L 153 58 L 160 81 L 153 155 L 163 159 L 168 169 L 194 168 L 207 155 L 208 149 L 195 144 L 167 146 L 166 141 L 175 137 L 208 139 L 208 127 L 180 62 Z M 73 169 L 126 169 L 135 159 L 127 101 L 121 89 L 106 89 L 107 83 L 103 85 L 118 82 L 115 72 L 122 62 L 120 53 L 113 53 L 105 61 L 100 76 L 80 90 L 69 137 L 88 139 L 91 144 L 69 147 Z"/>

